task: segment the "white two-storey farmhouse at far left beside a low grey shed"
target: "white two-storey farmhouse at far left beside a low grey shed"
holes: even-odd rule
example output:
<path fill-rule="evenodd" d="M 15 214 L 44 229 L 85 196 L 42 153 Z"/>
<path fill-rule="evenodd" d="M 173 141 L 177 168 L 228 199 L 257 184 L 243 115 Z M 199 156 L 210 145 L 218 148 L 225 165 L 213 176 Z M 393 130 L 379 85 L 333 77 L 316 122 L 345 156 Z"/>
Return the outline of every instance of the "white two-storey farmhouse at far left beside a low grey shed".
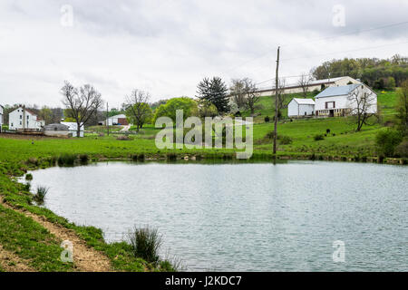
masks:
<path fill-rule="evenodd" d="M 45 126 L 34 111 L 20 106 L 8 115 L 8 129 L 15 131 L 40 131 Z"/>

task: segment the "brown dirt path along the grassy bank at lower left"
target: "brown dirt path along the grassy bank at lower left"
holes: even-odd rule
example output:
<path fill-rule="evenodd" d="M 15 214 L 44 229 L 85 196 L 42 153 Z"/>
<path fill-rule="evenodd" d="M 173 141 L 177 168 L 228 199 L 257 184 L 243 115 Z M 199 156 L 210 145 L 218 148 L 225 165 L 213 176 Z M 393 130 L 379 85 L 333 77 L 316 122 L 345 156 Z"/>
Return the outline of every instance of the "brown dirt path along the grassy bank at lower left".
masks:
<path fill-rule="evenodd" d="M 109 272 L 112 266 L 109 258 L 92 247 L 88 247 L 86 242 L 78 237 L 75 232 L 58 224 L 53 224 L 46 218 L 34 215 L 31 212 L 13 208 L 1 200 L 2 205 L 24 214 L 25 217 L 33 218 L 34 221 L 49 230 L 51 234 L 61 241 L 69 240 L 73 243 L 73 265 L 77 271 L 83 272 Z M 63 248 L 62 248 L 63 250 Z M 0 257 L 1 259 L 1 257 Z"/>

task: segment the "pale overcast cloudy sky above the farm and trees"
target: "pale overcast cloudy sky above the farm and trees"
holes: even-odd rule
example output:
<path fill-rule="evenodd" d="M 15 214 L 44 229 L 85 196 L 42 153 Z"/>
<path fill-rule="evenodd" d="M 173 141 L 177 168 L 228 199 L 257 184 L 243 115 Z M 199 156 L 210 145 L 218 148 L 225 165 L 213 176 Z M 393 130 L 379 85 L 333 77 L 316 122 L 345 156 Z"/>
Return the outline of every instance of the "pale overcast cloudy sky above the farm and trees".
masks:
<path fill-rule="evenodd" d="M 406 56 L 407 11 L 407 0 L 1 0 L 0 103 L 62 106 L 64 80 L 91 83 L 111 107 L 134 88 L 193 97 L 204 77 L 273 78 L 278 44 L 283 76 Z"/>

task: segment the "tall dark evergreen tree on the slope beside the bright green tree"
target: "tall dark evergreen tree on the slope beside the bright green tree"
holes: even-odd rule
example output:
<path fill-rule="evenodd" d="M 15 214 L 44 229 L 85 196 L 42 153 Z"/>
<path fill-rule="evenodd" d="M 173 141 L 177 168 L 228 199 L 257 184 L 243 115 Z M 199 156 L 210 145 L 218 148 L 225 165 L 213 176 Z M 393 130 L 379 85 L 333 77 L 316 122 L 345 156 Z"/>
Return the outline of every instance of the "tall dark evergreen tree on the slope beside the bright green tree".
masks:
<path fill-rule="evenodd" d="M 229 96 L 227 85 L 221 78 L 213 77 L 211 80 L 204 78 L 198 85 L 199 100 L 211 102 L 217 107 L 219 113 L 229 111 Z"/>

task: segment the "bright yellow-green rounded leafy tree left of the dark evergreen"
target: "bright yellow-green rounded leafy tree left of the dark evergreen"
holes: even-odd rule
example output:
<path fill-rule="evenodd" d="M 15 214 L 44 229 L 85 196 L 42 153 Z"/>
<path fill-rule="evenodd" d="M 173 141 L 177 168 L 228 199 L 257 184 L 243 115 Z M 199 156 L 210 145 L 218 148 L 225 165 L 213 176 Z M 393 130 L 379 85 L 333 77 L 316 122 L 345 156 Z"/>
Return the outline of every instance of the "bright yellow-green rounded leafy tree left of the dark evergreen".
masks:
<path fill-rule="evenodd" d="M 185 121 L 187 118 L 197 113 L 197 102 L 188 97 L 170 99 L 166 104 L 162 104 L 156 109 L 154 122 L 160 117 L 169 117 L 173 122 L 176 122 L 177 110 L 183 111 L 183 119 Z"/>

